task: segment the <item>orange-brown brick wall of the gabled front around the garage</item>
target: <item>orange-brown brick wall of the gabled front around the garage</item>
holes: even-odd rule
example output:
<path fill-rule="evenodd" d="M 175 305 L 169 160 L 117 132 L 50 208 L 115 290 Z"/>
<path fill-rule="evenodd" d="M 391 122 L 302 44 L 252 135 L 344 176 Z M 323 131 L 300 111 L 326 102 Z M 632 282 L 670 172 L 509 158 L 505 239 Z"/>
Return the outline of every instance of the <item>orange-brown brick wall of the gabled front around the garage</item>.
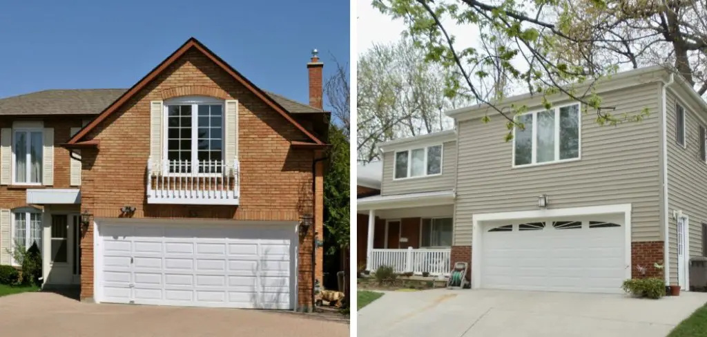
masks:
<path fill-rule="evenodd" d="M 219 96 L 225 93 L 227 97 L 221 98 L 238 100 L 241 183 L 238 207 L 146 203 L 150 101 L 174 93 L 191 93 L 193 88 Z M 134 218 L 299 220 L 303 213 L 312 213 L 315 153 L 290 147 L 290 141 L 308 138 L 194 49 L 91 131 L 88 139 L 98 139 L 100 150 L 83 150 L 82 211 L 88 210 L 96 217 L 116 218 L 119 208 L 128 204 L 136 207 Z M 317 167 L 318 186 L 322 182 L 321 168 Z M 321 200 L 317 196 L 315 202 L 315 228 L 320 236 L 323 235 Z M 81 249 L 81 298 L 87 299 L 93 297 L 92 227 L 83 236 Z M 300 237 L 299 307 L 311 307 L 311 249 L 311 234 Z M 322 275 L 321 252 L 319 249 L 317 254 L 318 277 Z"/>

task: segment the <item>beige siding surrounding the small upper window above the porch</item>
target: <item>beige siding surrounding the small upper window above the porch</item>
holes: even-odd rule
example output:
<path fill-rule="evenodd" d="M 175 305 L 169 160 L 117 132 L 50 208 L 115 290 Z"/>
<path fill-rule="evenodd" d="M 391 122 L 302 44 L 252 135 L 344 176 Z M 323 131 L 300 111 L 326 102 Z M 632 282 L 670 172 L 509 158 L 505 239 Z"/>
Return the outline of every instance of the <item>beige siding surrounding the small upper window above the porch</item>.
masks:
<path fill-rule="evenodd" d="M 454 188 L 457 160 L 456 141 L 443 143 L 442 174 L 434 177 L 393 180 L 394 153 L 395 151 L 383 153 L 383 180 L 380 186 L 381 195 L 443 191 L 445 189 Z"/>

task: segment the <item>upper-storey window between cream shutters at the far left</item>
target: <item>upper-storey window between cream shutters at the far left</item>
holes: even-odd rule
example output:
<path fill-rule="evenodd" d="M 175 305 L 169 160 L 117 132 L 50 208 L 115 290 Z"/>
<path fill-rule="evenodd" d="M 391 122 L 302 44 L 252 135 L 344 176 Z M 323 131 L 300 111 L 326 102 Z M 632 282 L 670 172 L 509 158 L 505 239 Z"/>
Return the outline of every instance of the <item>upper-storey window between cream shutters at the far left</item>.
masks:
<path fill-rule="evenodd" d="M 13 129 L 12 138 L 12 183 L 41 185 L 44 155 L 42 129 Z"/>

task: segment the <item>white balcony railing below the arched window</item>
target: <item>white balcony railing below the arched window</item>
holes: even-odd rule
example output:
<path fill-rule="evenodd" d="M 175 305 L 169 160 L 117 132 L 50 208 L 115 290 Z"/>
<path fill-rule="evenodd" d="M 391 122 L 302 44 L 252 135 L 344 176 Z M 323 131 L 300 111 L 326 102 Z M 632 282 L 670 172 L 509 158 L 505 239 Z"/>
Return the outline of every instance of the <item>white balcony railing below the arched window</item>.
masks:
<path fill-rule="evenodd" d="M 183 205 L 238 205 L 240 184 L 238 160 L 226 165 L 222 160 L 163 160 L 153 170 L 148 160 L 147 203 Z"/>

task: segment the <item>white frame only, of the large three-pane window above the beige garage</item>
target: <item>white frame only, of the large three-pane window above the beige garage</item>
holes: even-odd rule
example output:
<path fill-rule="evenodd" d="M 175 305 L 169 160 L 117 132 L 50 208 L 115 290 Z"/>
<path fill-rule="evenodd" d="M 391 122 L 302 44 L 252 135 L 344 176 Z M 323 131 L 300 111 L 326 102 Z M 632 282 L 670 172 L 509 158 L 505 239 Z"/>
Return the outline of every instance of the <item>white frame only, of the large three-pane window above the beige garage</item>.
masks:
<path fill-rule="evenodd" d="M 572 105 L 577 105 L 577 118 L 578 120 L 578 153 L 577 153 L 577 158 L 568 158 L 568 159 L 560 159 L 560 109 L 563 107 L 570 107 Z M 537 160 L 537 114 L 538 112 L 545 112 L 553 110 L 555 112 L 555 160 L 550 160 L 547 162 L 536 162 Z M 551 164 L 557 164 L 560 162 L 574 162 L 577 160 L 582 160 L 582 103 L 580 102 L 570 102 L 566 103 L 563 105 L 554 105 L 551 107 L 549 110 L 547 109 L 539 109 L 539 110 L 533 110 L 530 112 L 525 112 L 523 114 L 519 114 L 518 116 L 523 116 L 525 114 L 532 114 L 533 115 L 533 123 L 532 123 L 532 157 L 530 160 L 530 164 L 522 164 L 522 165 L 515 165 L 515 129 L 517 128 L 516 126 L 513 127 L 513 155 L 511 156 L 511 167 L 512 168 L 520 168 L 520 167 L 532 167 L 532 166 L 542 166 L 542 165 L 551 165 Z M 518 117 L 517 116 L 517 117 Z"/>

